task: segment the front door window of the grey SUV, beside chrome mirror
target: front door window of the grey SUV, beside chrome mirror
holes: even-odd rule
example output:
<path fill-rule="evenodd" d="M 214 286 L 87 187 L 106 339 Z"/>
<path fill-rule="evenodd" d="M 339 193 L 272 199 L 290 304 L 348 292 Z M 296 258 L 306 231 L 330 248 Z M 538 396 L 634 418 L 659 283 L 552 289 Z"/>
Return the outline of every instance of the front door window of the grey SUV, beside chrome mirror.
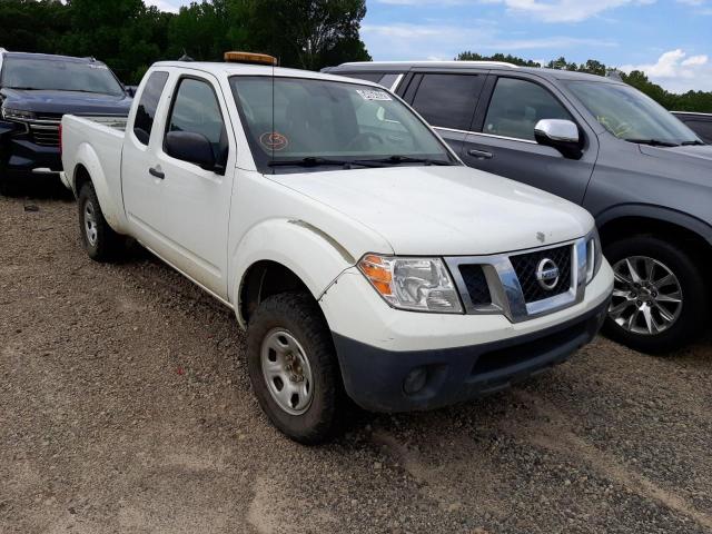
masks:
<path fill-rule="evenodd" d="M 542 119 L 572 120 L 572 117 L 538 83 L 500 78 L 490 100 L 483 134 L 534 141 L 534 127 Z"/>

